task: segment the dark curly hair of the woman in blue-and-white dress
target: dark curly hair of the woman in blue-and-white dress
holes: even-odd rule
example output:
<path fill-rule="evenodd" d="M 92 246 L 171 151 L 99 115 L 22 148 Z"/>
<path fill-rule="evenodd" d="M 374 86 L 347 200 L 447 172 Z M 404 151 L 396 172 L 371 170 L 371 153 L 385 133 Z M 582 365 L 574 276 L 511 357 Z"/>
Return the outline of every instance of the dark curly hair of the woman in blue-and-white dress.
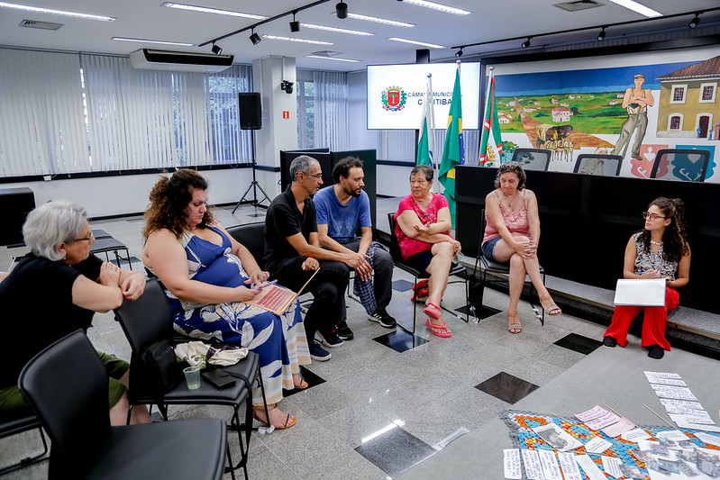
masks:
<path fill-rule="evenodd" d="M 159 177 L 150 190 L 150 206 L 145 211 L 142 237 L 147 240 L 152 231 L 168 229 L 179 239 L 183 231 L 187 230 L 185 207 L 192 201 L 194 190 L 207 190 L 207 181 L 195 170 L 181 168 L 171 177 Z M 213 214 L 209 210 L 198 226 L 205 228 L 208 223 L 214 223 Z"/>

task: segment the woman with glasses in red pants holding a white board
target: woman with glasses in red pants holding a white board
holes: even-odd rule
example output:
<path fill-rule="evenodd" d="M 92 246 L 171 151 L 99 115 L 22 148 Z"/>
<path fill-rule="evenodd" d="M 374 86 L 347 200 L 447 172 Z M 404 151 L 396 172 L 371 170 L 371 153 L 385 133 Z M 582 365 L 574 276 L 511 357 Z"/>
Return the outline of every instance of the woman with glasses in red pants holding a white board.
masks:
<path fill-rule="evenodd" d="M 643 212 L 645 228 L 630 237 L 625 248 L 624 278 L 667 278 L 664 307 L 617 305 L 613 321 L 605 332 L 603 345 L 627 345 L 627 330 L 641 312 L 643 347 L 648 357 L 662 358 L 670 343 L 665 339 L 668 312 L 678 306 L 675 290 L 688 285 L 690 276 L 690 247 L 685 228 L 685 209 L 679 198 L 656 198 Z"/>

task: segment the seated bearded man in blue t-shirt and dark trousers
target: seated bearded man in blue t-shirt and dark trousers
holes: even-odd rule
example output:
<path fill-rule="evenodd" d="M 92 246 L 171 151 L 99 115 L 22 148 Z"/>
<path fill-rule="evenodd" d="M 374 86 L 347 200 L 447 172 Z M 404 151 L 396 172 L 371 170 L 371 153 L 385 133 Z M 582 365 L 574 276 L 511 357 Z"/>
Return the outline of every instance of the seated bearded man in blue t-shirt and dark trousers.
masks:
<path fill-rule="evenodd" d="M 377 241 L 372 241 L 370 201 L 362 191 L 365 186 L 362 161 L 357 157 L 342 158 L 333 168 L 333 186 L 314 196 L 317 210 L 317 233 L 320 245 L 340 253 L 358 253 L 365 261 L 355 268 L 355 294 L 368 312 L 369 320 L 388 329 L 396 320 L 387 313 L 392 298 L 393 260 Z M 360 238 L 356 232 L 360 227 Z M 372 272 L 375 270 L 373 285 Z M 338 336 L 350 340 L 352 331 L 345 322 L 338 324 Z"/>

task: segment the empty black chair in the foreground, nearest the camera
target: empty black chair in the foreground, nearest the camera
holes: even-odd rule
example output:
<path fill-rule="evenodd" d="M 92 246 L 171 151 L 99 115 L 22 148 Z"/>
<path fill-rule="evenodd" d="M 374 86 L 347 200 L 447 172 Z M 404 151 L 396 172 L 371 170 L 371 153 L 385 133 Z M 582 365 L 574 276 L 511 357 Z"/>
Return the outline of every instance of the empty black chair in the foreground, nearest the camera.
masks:
<path fill-rule="evenodd" d="M 219 480 L 225 455 L 232 464 L 222 420 L 111 427 L 107 374 L 83 331 L 32 358 L 19 384 L 50 436 L 51 479 Z"/>

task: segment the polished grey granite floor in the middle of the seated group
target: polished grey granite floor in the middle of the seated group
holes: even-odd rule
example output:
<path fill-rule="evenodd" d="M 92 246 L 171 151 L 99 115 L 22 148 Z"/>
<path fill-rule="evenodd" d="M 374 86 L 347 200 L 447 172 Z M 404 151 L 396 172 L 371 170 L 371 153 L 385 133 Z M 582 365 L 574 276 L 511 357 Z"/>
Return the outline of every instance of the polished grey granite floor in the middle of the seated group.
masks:
<path fill-rule="evenodd" d="M 380 230 L 387 231 L 385 213 L 395 211 L 397 202 L 396 198 L 378 199 Z M 264 216 L 264 210 L 251 206 L 242 206 L 234 215 L 231 211 L 232 206 L 217 210 L 216 216 L 225 226 L 259 222 Z M 140 257 L 140 216 L 91 224 L 123 241 L 134 260 Z M 0 248 L 0 269 L 23 252 Z M 133 263 L 134 269 L 140 267 Z M 411 285 L 412 277 L 396 269 L 388 311 L 408 326 L 413 318 Z M 369 322 L 360 304 L 349 300 L 348 323 L 355 339 L 333 349 L 329 361 L 308 366 L 311 387 L 280 403 L 285 412 L 296 416 L 295 427 L 253 435 L 251 478 L 380 479 L 401 475 L 437 455 L 443 439 L 465 431 L 462 429 L 478 429 L 497 418 L 497 412 L 560 376 L 597 349 L 602 339 L 604 327 L 567 314 L 547 317 L 541 326 L 532 306 L 524 302 L 519 312 L 523 332 L 513 335 L 507 331 L 502 313 L 506 294 L 488 289 L 485 303 L 501 312 L 479 322 L 471 317 L 467 323 L 460 313 L 455 318 L 443 312 L 453 333 L 450 339 L 430 334 L 418 311 L 416 334 L 422 340 L 415 340 L 414 348 L 396 351 L 388 345 L 407 344 L 408 337 Z M 449 286 L 443 304 L 451 310 L 464 306 L 462 284 Z M 97 349 L 130 358 L 130 348 L 112 313 L 97 314 L 94 325 L 89 336 Z M 409 340 L 410 347 L 413 342 Z M 637 355 L 644 356 L 641 351 Z M 229 419 L 230 412 L 198 406 L 171 410 L 171 418 L 195 416 Z M 237 439 L 229 439 L 237 457 Z M 1 439 L 0 466 L 38 448 L 36 433 Z M 46 475 L 47 462 L 7 478 Z"/>

